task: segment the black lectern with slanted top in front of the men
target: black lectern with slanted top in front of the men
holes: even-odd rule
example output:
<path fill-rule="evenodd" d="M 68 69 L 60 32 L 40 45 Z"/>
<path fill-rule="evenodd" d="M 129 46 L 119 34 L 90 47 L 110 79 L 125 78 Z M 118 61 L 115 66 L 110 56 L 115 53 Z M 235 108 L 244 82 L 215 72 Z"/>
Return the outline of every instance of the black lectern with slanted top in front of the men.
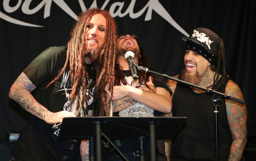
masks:
<path fill-rule="evenodd" d="M 96 160 L 101 160 L 101 135 L 109 140 L 149 138 L 150 158 L 155 160 L 155 140 L 171 140 L 186 117 L 69 117 L 64 118 L 59 140 L 89 140 L 95 137 Z"/>

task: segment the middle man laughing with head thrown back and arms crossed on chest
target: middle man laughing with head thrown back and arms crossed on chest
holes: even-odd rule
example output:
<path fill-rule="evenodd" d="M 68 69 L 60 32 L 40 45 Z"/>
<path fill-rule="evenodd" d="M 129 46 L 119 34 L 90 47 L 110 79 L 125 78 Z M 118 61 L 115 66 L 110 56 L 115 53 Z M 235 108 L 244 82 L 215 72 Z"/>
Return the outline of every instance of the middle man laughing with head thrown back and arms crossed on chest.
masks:
<path fill-rule="evenodd" d="M 128 67 L 125 53 L 132 51 L 134 60 L 139 66 L 149 68 L 146 56 L 138 45 L 136 35 L 120 35 L 117 41 L 115 63 L 115 82 L 113 87 L 113 116 L 121 117 L 154 117 L 160 113 L 170 113 L 172 109 L 171 94 L 162 78 L 138 71 L 138 79 L 133 80 Z M 156 115 L 158 113 L 158 115 Z M 125 154 L 128 160 L 139 160 L 138 140 L 114 141 L 117 148 Z M 146 142 L 147 144 L 147 142 Z M 144 150 L 149 146 L 144 144 Z M 162 142 L 162 153 L 158 150 L 158 160 L 164 158 L 165 149 Z M 113 149 L 105 149 L 106 160 L 122 160 Z M 145 153 L 147 154 L 147 152 Z"/>

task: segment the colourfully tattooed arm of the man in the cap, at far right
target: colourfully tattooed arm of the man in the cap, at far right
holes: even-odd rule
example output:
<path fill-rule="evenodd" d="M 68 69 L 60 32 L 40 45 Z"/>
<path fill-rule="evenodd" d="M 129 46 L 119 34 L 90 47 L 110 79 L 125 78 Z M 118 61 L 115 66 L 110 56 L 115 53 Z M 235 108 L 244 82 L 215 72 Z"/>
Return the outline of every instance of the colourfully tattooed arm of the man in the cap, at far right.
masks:
<path fill-rule="evenodd" d="M 227 83 L 225 92 L 233 97 L 243 99 L 240 88 L 233 81 Z M 233 138 L 230 147 L 229 161 L 241 160 L 247 138 L 247 111 L 245 103 L 241 104 L 226 100 L 226 109 L 229 128 Z"/>

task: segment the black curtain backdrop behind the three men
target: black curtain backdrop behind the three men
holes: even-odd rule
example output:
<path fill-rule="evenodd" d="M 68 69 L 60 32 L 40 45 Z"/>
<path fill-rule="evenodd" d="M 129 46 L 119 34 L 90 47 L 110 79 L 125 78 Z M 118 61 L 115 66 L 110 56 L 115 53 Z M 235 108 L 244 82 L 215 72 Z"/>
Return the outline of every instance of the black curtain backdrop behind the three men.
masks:
<path fill-rule="evenodd" d="M 138 35 L 153 70 L 169 76 L 184 68 L 181 36 L 197 27 L 216 32 L 225 44 L 227 74 L 244 95 L 248 137 L 256 136 L 255 0 L 1 0 L 1 140 L 22 130 L 27 116 L 8 97 L 12 83 L 44 49 L 67 44 L 76 16 L 91 5 L 111 10 L 119 34 Z"/>

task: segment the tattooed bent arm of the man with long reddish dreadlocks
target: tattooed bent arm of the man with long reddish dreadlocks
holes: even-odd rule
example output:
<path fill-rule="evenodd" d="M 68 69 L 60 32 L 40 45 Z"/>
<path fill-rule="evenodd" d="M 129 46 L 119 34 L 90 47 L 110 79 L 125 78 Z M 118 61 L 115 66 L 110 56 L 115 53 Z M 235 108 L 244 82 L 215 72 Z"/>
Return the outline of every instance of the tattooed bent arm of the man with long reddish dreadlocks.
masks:
<path fill-rule="evenodd" d="M 35 85 L 29 80 L 26 74 L 22 72 L 12 85 L 9 96 L 29 113 L 44 119 L 46 109 L 30 94 L 35 88 Z"/>

